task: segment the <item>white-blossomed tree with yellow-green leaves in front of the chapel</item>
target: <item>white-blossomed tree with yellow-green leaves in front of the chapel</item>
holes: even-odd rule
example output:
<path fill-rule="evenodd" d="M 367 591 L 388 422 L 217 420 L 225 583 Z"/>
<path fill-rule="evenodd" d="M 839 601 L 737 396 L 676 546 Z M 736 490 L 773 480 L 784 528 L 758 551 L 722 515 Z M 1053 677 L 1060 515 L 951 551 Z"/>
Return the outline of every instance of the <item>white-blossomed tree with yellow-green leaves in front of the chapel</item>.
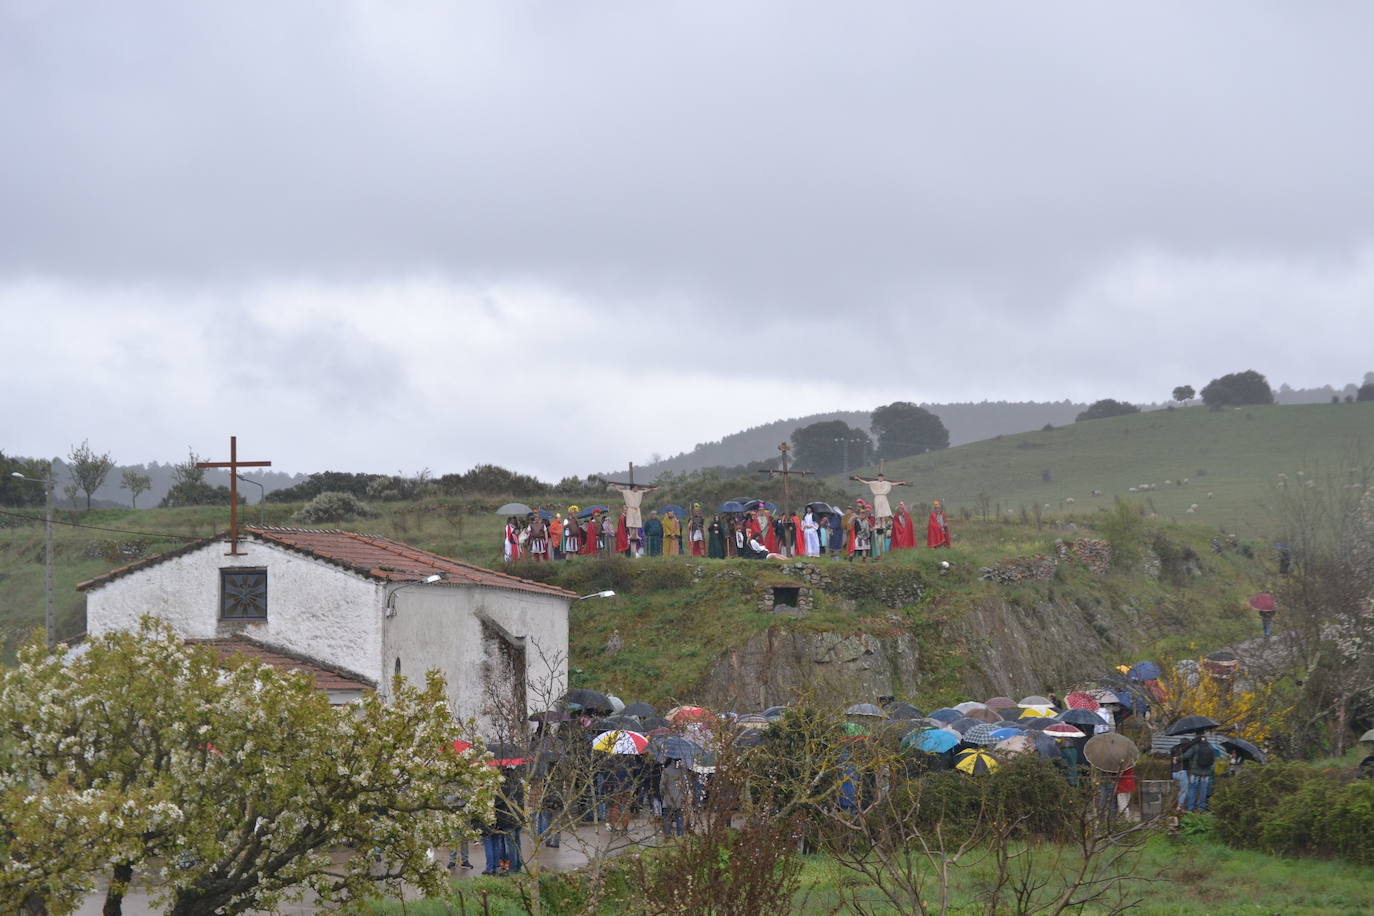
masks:
<path fill-rule="evenodd" d="M 153 621 L 81 652 L 30 643 L 0 677 L 0 894 L 36 913 L 70 912 L 106 868 L 117 913 L 154 862 L 177 916 L 438 893 L 430 847 L 469 834 L 495 791 L 480 751 L 451 750 L 437 674 L 387 705 L 331 707 L 305 676 L 224 666 Z M 335 861 L 345 846 L 359 854 Z"/>

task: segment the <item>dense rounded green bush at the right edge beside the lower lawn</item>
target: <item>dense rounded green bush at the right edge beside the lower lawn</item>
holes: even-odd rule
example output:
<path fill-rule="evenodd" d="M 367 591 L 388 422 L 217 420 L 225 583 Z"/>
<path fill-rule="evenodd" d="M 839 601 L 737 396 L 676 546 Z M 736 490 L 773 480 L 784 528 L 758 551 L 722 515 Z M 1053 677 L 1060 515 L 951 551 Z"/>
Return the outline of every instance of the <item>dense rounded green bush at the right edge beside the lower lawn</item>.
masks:
<path fill-rule="evenodd" d="M 1246 768 L 1209 802 L 1231 846 L 1374 865 L 1374 781 L 1301 764 Z"/>

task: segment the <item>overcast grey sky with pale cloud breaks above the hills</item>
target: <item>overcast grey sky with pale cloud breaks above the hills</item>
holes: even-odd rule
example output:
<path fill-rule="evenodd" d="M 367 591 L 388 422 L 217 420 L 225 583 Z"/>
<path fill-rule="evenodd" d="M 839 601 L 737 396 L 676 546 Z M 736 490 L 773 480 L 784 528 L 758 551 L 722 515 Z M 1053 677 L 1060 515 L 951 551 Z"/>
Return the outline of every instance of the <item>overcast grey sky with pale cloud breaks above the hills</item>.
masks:
<path fill-rule="evenodd" d="M 1367 3 L 0 0 L 0 449 L 545 478 L 1374 368 Z"/>

